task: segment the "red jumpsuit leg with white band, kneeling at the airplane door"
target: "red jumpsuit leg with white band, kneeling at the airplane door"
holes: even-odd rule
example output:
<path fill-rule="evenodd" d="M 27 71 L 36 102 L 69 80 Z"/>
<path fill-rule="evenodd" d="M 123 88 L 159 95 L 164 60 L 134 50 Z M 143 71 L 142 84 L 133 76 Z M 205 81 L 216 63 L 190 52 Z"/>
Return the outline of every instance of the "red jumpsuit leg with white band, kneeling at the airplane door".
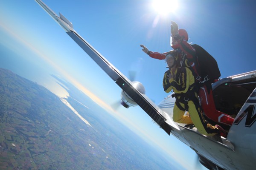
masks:
<path fill-rule="evenodd" d="M 208 92 L 206 85 L 204 85 L 199 89 L 198 96 L 200 97 L 204 113 L 209 119 L 213 120 L 214 122 L 220 122 L 229 126 L 233 124 L 233 117 L 216 110 L 211 88 Z"/>

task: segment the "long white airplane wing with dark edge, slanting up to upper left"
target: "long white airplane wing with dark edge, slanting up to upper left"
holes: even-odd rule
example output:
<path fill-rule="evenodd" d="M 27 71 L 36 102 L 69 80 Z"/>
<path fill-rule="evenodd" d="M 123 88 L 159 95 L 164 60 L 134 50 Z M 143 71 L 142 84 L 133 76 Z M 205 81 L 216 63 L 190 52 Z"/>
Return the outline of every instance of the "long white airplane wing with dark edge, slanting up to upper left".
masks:
<path fill-rule="evenodd" d="M 105 71 L 131 99 L 134 100 L 163 130 L 170 135 L 172 128 L 180 128 L 172 121 L 168 114 L 163 112 L 147 96 L 141 94 L 133 86 L 132 82 L 117 70 L 105 57 L 84 40 L 74 29 L 73 24 L 61 13 L 55 14 L 41 0 L 35 0 L 65 31 L 66 33 Z"/>

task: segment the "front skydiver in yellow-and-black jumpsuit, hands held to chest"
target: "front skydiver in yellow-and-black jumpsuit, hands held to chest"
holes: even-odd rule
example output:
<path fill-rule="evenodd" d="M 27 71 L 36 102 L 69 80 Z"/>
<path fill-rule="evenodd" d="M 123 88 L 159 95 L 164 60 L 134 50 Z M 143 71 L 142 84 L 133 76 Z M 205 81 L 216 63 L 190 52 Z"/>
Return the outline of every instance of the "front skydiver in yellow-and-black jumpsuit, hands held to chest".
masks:
<path fill-rule="evenodd" d="M 178 67 L 175 50 L 169 51 L 166 62 L 169 70 L 164 74 L 163 88 L 166 93 L 171 90 L 175 92 L 173 120 L 177 123 L 194 124 L 198 131 L 206 136 L 218 134 L 218 125 L 210 125 L 202 115 L 198 94 L 194 89 L 195 77 L 192 71 L 187 67 Z M 184 115 L 185 111 L 189 112 L 189 116 Z"/>

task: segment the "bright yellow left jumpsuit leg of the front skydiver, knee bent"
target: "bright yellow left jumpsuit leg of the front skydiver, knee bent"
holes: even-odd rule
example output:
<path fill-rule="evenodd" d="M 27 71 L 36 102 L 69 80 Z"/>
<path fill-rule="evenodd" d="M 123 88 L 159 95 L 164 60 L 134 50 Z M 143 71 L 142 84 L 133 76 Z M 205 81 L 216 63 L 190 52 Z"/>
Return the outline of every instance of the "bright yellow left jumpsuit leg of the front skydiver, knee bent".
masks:
<path fill-rule="evenodd" d="M 191 117 L 184 115 L 184 113 L 185 111 L 180 110 L 175 104 L 173 108 L 173 116 L 172 116 L 173 121 L 177 123 L 193 124 Z"/>

